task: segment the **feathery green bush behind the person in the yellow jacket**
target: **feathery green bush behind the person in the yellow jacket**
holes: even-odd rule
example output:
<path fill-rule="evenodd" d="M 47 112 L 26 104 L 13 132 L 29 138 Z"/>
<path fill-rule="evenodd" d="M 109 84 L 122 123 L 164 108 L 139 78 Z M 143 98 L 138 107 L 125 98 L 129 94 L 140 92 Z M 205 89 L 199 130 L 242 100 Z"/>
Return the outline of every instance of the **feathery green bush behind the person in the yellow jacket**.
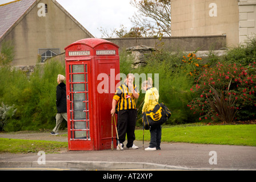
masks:
<path fill-rule="evenodd" d="M 193 85 L 193 78 L 184 74 L 182 63 L 182 55 L 172 54 L 165 51 L 154 52 L 152 56 L 147 58 L 146 67 L 135 69 L 134 72 L 152 78 L 154 84 L 159 85 L 159 102 L 171 110 L 172 115 L 167 121 L 170 123 L 193 122 L 195 116 L 186 107 L 187 103 L 193 98 L 193 93 L 189 92 Z M 157 75 L 158 74 L 158 79 Z M 158 83 L 157 83 L 158 82 Z M 141 85 L 137 85 L 141 88 Z M 143 106 L 145 93 L 141 93 L 138 99 L 138 118 L 141 118 L 141 109 Z"/>

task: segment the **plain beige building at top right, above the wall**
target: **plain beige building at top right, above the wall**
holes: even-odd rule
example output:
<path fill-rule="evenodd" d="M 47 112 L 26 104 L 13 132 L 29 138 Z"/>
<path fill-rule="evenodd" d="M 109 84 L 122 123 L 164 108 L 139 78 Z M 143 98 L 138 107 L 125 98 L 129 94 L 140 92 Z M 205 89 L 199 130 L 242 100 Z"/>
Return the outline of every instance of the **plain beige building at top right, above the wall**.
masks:
<path fill-rule="evenodd" d="M 256 0 L 170 0 L 171 36 L 226 35 L 228 47 L 256 34 Z"/>

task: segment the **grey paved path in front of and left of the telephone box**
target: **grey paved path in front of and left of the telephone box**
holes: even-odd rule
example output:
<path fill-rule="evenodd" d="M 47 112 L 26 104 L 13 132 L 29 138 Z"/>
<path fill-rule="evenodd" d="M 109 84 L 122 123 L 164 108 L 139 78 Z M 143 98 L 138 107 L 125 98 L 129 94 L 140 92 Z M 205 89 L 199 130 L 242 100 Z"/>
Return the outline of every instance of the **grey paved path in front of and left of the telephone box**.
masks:
<path fill-rule="evenodd" d="M 10 137 L 67 141 L 67 137 L 51 136 L 49 133 L 0 134 L 0 138 Z M 139 147 L 138 150 L 65 151 L 61 154 L 46 154 L 46 164 L 41 165 L 38 164 L 40 156 L 37 154 L 0 154 L 0 168 L 256 170 L 256 147 L 162 142 L 162 150 L 143 151 L 141 141 L 134 143 Z M 148 144 L 149 142 L 145 142 L 145 147 Z M 214 152 L 210 153 L 211 151 Z M 210 164 L 213 162 L 215 164 Z"/>

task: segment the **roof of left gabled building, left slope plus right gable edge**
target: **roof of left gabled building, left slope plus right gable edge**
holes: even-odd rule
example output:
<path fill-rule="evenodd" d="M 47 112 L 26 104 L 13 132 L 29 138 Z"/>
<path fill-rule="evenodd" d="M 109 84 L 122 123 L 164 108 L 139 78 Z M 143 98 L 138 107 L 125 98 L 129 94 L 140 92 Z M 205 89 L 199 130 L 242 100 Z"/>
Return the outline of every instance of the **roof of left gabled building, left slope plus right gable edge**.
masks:
<path fill-rule="evenodd" d="M 21 19 L 29 13 L 31 9 L 40 0 L 17 0 L 0 5 L 0 41 L 5 37 L 7 32 L 12 30 L 15 24 L 19 23 Z M 83 31 L 86 32 L 91 38 L 94 36 L 90 34 L 73 16 L 71 16 L 59 3 L 55 0 L 51 0 L 56 6 L 59 7 L 70 19 L 72 19 Z"/>

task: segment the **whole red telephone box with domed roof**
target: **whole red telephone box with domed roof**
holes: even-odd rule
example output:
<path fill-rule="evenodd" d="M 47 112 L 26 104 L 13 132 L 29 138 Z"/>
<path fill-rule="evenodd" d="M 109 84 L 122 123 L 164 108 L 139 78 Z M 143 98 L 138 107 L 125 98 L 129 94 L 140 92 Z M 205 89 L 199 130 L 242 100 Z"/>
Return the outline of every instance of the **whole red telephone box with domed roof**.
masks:
<path fill-rule="evenodd" d="M 65 48 L 69 150 L 111 147 L 110 110 L 120 72 L 118 48 L 94 38 L 78 40 Z M 113 123 L 116 147 L 114 131 Z"/>

